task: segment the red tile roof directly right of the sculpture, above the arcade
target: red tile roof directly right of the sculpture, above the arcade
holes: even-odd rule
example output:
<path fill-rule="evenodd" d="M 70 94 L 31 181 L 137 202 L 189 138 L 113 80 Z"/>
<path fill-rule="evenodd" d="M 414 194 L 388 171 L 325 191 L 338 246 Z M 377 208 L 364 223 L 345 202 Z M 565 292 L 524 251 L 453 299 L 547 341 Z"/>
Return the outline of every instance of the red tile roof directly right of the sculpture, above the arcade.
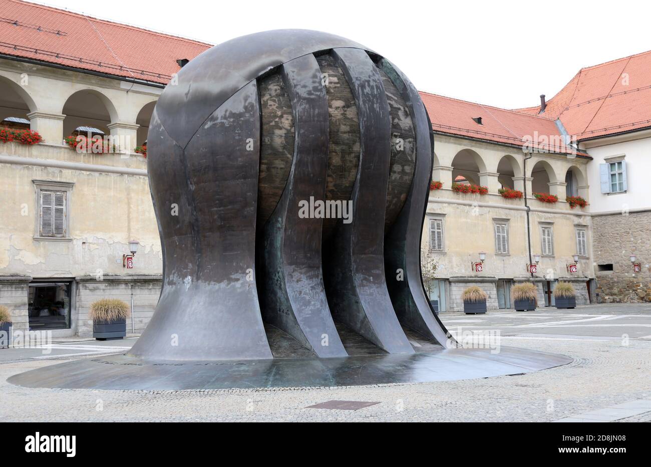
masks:
<path fill-rule="evenodd" d="M 561 132 L 554 120 L 538 115 L 483 106 L 428 92 L 420 92 L 435 132 L 482 139 L 521 147 L 525 137 L 538 143 L 534 147 L 561 154 L 572 153 L 564 145 Z M 475 118 L 482 117 L 482 123 Z M 551 146 L 546 144 L 551 143 Z M 578 153 L 581 156 L 587 154 Z"/>

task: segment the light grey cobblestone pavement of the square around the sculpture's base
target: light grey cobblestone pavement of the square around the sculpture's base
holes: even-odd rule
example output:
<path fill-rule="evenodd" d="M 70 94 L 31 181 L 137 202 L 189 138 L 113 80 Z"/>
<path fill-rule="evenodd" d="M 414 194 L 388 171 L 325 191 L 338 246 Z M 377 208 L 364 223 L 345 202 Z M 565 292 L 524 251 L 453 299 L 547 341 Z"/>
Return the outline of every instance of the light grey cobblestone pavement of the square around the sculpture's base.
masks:
<path fill-rule="evenodd" d="M 454 332 L 500 330 L 501 345 L 566 354 L 574 358 L 574 362 L 527 375 L 388 386 L 226 391 L 90 391 L 31 389 L 8 384 L 8 376 L 60 363 L 66 358 L 56 361 L 11 361 L 5 357 L 6 363 L 0 364 L 0 419 L 554 421 L 613 404 L 651 397 L 649 306 L 598 305 L 579 307 L 569 313 L 539 309 L 530 315 L 500 311 L 489 312 L 482 317 L 449 313 L 441 315 L 441 318 Z M 598 324 L 607 326 L 597 326 Z M 627 336 L 622 337 L 624 334 Z M 0 352 L 16 350 L 20 349 Z M 359 410 L 307 408 L 331 400 L 378 404 Z M 650 418 L 647 413 L 622 421 L 647 421 Z"/>

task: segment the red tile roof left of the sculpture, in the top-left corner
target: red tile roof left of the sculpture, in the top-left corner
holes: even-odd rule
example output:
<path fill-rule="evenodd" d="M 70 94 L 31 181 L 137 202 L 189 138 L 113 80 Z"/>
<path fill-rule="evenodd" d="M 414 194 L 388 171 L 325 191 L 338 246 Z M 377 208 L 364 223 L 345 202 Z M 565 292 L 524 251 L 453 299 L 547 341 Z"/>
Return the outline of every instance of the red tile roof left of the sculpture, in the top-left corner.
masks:
<path fill-rule="evenodd" d="M 0 53 L 165 84 L 210 44 L 18 0 L 0 0 Z"/>

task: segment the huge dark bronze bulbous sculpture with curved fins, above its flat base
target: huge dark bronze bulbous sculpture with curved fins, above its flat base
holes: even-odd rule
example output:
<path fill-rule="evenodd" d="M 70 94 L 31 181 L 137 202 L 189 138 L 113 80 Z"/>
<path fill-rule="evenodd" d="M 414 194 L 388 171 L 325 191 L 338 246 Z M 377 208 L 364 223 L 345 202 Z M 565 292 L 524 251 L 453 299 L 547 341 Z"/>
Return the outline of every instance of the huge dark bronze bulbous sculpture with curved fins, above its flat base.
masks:
<path fill-rule="evenodd" d="M 443 345 L 420 270 L 430 128 L 402 72 L 339 36 L 269 31 L 193 59 L 150 123 L 164 278 L 130 355 L 270 359 L 279 332 L 323 358 Z"/>

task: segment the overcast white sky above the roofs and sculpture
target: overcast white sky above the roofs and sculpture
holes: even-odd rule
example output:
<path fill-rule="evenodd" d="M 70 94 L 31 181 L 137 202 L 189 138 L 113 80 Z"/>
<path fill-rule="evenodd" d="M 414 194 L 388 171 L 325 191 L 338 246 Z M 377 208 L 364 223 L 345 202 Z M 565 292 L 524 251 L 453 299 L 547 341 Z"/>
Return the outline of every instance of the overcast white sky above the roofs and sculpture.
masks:
<path fill-rule="evenodd" d="M 210 44 L 269 29 L 327 31 L 381 53 L 421 91 L 505 108 L 551 98 L 582 66 L 651 50 L 648 0 L 36 3 Z"/>

